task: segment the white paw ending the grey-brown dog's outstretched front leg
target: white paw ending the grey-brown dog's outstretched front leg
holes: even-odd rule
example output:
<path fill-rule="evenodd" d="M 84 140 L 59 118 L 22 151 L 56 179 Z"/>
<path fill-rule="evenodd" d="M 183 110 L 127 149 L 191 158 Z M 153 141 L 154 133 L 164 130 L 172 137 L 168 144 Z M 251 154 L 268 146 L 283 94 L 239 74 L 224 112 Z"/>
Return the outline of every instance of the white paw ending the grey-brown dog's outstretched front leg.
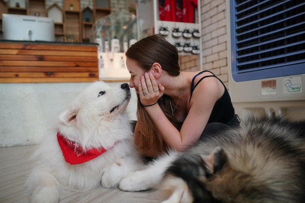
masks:
<path fill-rule="evenodd" d="M 129 173 L 119 184 L 119 189 L 123 191 L 142 191 L 151 188 L 150 180 L 145 176 L 142 170 Z"/>

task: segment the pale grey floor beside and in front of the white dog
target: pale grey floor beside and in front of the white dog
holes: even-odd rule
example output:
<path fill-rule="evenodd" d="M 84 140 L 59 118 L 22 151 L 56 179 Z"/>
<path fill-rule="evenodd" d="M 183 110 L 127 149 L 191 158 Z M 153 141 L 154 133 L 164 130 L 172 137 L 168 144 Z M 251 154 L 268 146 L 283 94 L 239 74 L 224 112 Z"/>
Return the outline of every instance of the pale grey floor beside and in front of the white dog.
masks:
<path fill-rule="evenodd" d="M 0 203 L 29 203 L 25 180 L 30 172 L 28 161 L 37 146 L 0 148 Z M 124 192 L 95 188 L 89 191 L 67 191 L 59 203 L 159 203 L 156 191 Z"/>

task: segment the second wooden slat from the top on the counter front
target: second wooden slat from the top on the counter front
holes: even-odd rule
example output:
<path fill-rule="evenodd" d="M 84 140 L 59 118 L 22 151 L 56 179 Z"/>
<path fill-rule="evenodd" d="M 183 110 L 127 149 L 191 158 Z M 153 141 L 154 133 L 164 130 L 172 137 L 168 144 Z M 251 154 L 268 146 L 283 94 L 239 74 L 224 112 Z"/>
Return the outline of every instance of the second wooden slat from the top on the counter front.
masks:
<path fill-rule="evenodd" d="M 46 50 L 22 50 L 22 49 L 0 49 L 0 55 L 65 55 L 65 56 L 95 56 L 95 52 L 75 52 L 75 51 L 46 51 Z"/>

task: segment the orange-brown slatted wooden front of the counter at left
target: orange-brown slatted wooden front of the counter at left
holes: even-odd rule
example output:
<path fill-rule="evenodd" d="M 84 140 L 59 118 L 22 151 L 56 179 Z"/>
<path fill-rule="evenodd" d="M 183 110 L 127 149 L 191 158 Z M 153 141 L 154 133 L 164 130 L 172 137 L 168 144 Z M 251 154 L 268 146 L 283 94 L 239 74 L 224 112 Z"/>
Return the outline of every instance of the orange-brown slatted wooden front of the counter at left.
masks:
<path fill-rule="evenodd" d="M 0 42 L 0 83 L 96 80 L 95 44 Z"/>

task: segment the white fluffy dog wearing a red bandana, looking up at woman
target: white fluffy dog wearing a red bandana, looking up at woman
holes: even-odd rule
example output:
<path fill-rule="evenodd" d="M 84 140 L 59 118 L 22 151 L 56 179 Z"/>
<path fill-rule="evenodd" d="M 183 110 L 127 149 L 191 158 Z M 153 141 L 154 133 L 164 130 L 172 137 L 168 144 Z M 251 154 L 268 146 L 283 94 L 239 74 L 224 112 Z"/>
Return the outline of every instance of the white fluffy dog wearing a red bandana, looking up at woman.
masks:
<path fill-rule="evenodd" d="M 58 116 L 57 127 L 33 154 L 26 182 L 31 203 L 58 203 L 60 191 L 118 187 L 143 167 L 133 146 L 127 83 L 92 83 Z"/>

